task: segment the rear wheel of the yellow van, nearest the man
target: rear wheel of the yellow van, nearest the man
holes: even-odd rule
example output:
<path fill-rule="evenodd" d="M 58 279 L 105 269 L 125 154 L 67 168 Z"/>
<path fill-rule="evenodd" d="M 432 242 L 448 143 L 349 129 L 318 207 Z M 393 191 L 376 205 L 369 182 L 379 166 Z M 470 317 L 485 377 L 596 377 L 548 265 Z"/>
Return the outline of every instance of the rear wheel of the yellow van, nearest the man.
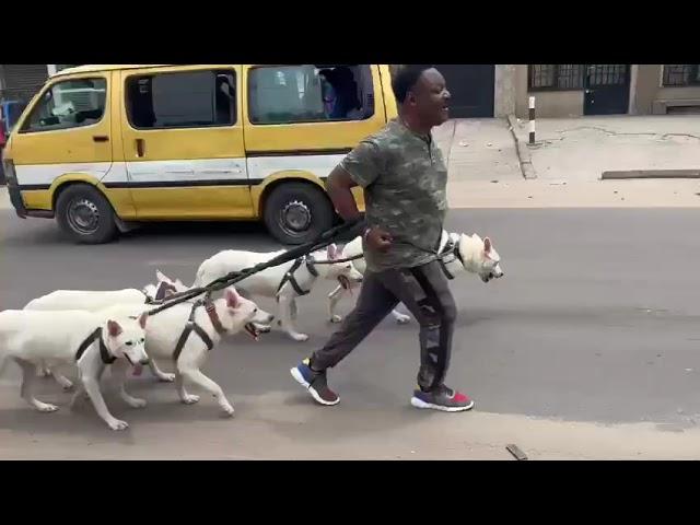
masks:
<path fill-rule="evenodd" d="M 304 244 L 332 228 L 335 212 L 328 196 L 311 184 L 283 183 L 265 202 L 265 225 L 282 244 Z"/>

